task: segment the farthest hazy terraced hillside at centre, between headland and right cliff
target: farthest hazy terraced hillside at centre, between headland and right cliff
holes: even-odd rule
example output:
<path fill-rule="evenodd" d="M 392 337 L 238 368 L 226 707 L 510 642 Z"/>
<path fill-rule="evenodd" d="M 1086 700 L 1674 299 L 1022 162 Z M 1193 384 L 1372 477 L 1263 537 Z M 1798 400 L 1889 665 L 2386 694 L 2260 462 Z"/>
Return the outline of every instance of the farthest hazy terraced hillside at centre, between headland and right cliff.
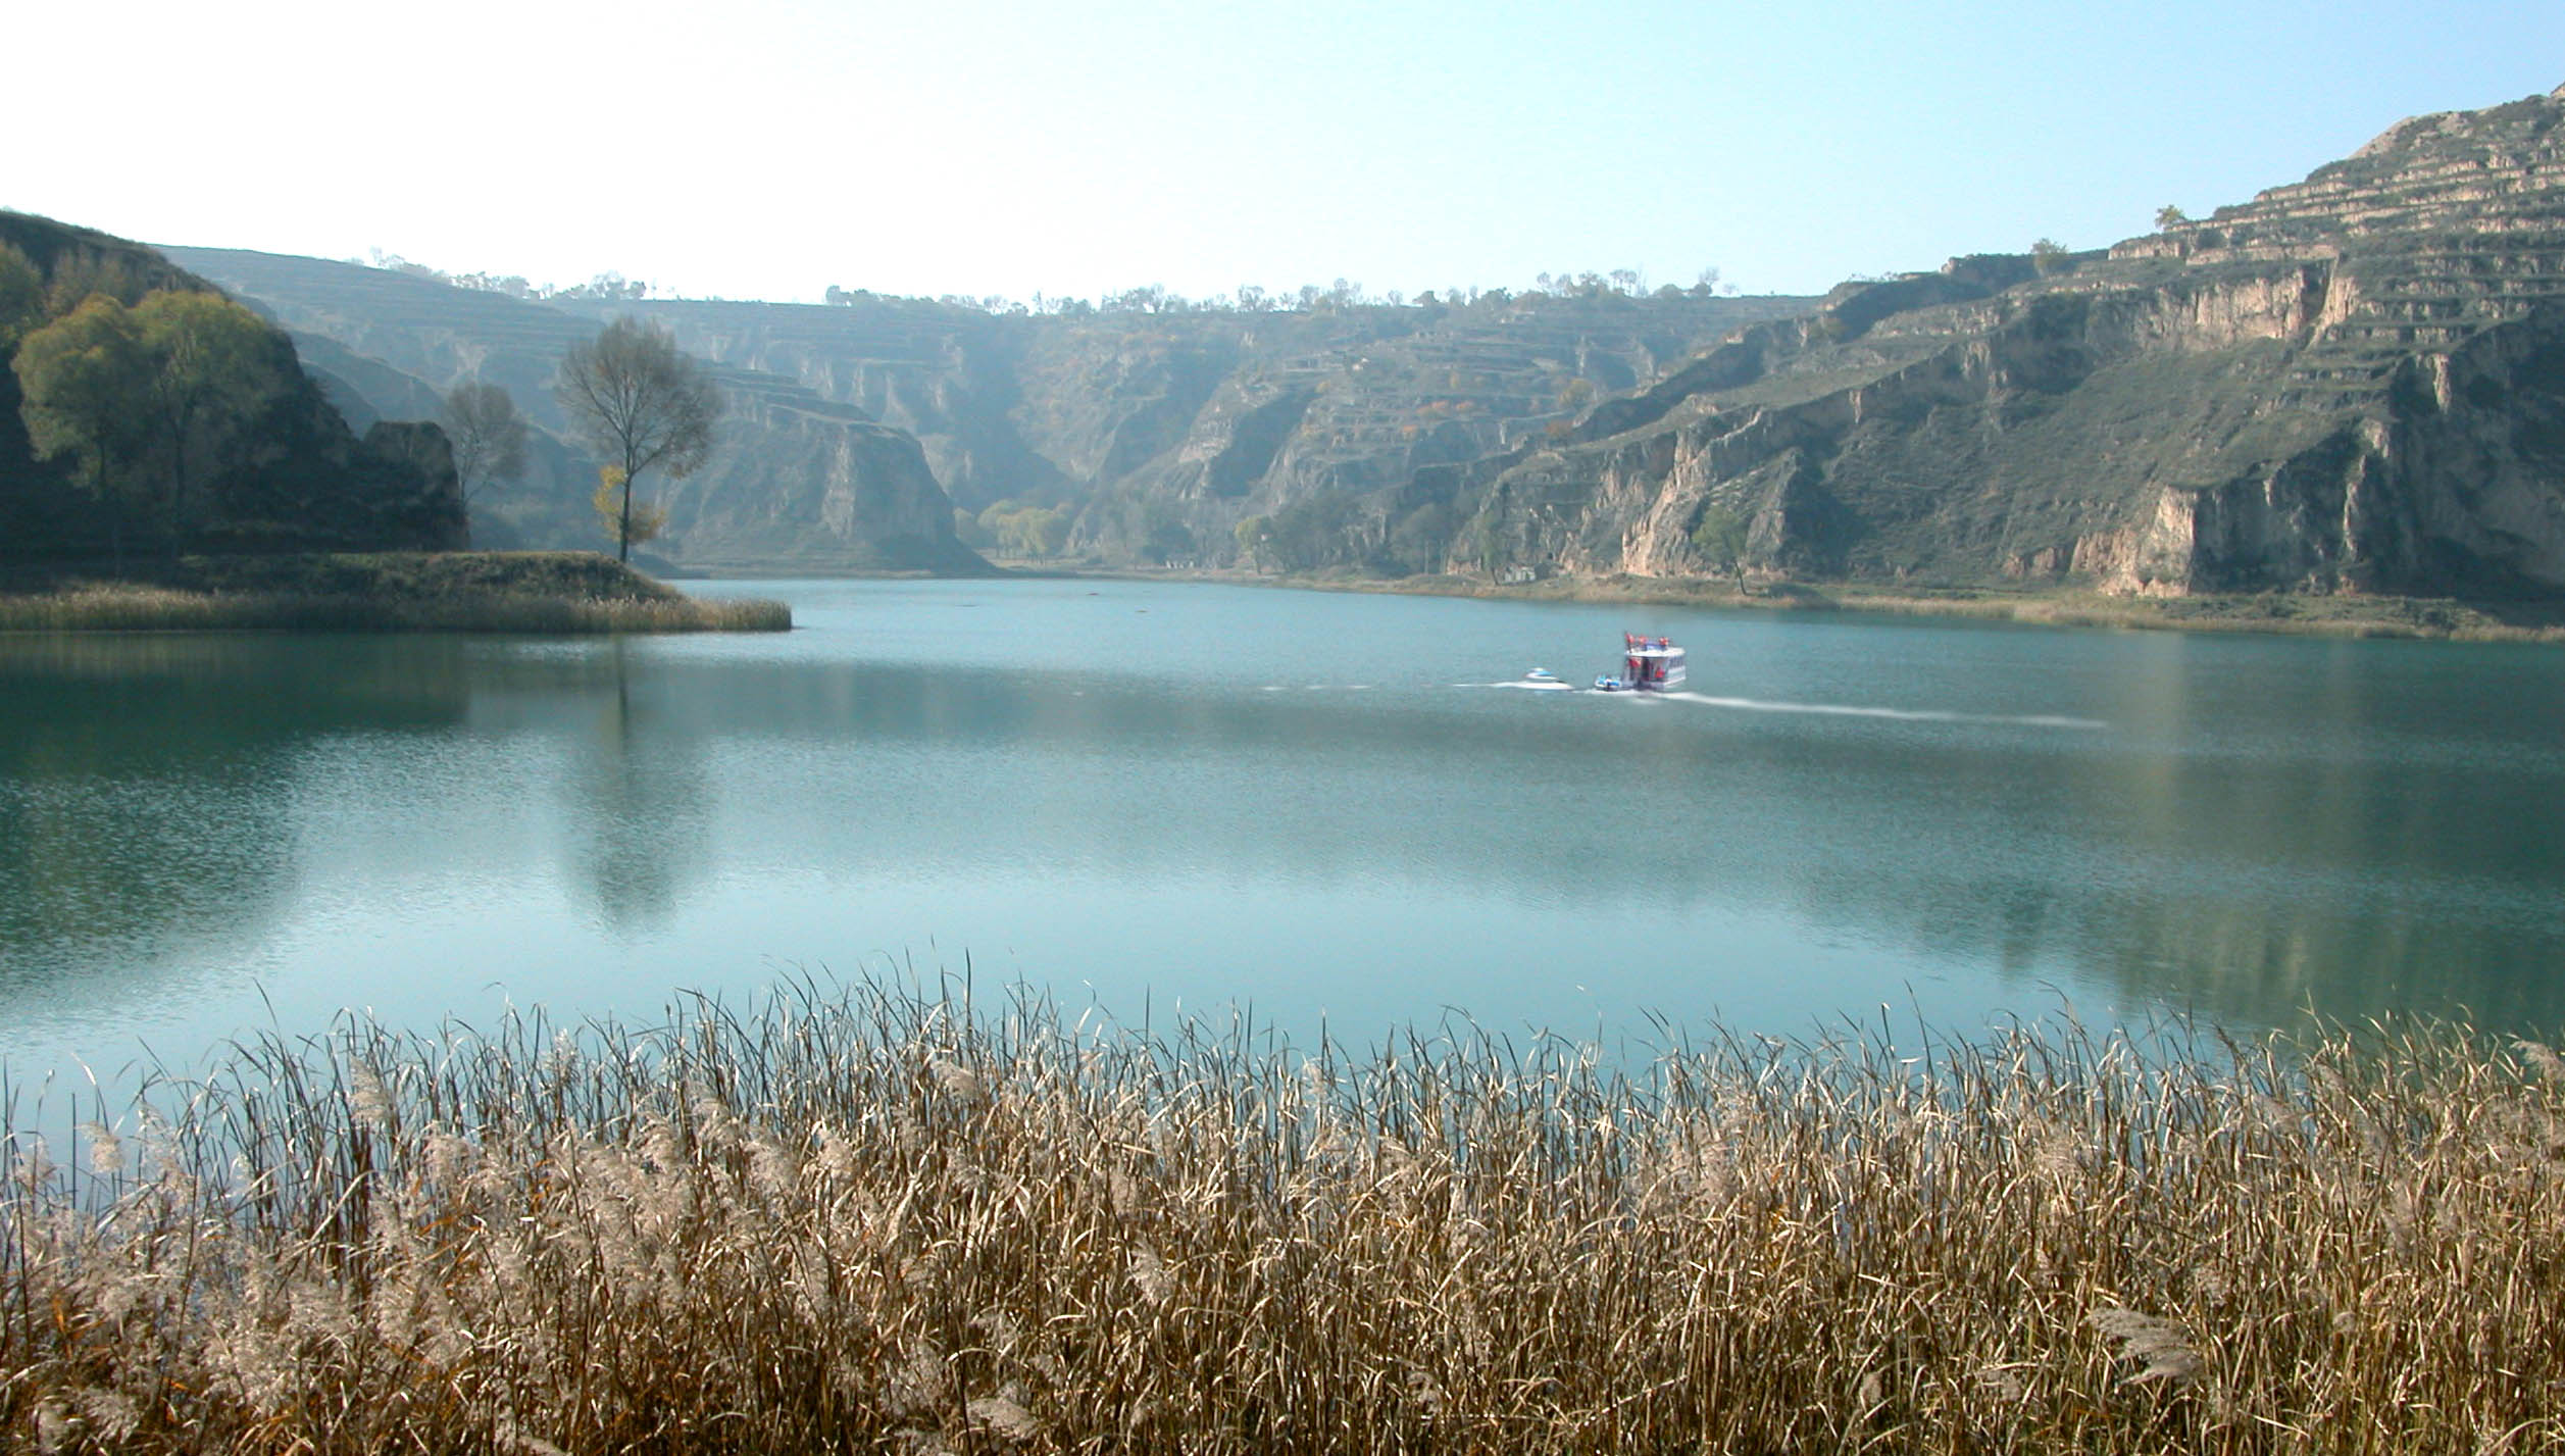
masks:
<path fill-rule="evenodd" d="M 1465 308 L 988 315 L 859 297 L 639 302 L 677 341 L 918 436 L 964 510 L 1077 510 L 1103 559 L 1226 559 L 1247 515 L 1313 495 L 1380 518 L 1418 469 L 1565 428 L 1798 297 L 1493 295 Z M 1359 554 L 1344 536 L 1341 559 Z"/>

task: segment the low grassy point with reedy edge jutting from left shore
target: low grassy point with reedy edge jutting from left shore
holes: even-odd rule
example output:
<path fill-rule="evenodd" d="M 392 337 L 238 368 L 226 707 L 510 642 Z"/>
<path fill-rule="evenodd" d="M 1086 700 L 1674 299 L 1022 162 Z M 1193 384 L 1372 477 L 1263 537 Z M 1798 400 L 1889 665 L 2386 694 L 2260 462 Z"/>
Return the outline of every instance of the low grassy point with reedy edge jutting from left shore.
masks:
<path fill-rule="evenodd" d="M 146 574 L 0 590 L 0 631 L 787 631 L 767 600 L 705 600 L 590 551 L 192 556 Z"/>

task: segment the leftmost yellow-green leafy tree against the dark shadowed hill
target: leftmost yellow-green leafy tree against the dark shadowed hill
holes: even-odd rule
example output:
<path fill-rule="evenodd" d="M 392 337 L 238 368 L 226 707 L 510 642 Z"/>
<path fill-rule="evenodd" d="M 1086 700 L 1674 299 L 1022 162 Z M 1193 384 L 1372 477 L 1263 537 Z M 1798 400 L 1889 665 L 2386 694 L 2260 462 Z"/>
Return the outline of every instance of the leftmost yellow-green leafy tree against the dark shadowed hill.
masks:
<path fill-rule="evenodd" d="M 18 413 L 36 459 L 77 461 L 72 479 L 105 502 L 115 572 L 123 574 L 123 518 L 144 484 L 144 420 L 151 405 L 151 359 L 133 310 L 95 295 L 28 333 L 10 369 L 18 374 Z"/>

